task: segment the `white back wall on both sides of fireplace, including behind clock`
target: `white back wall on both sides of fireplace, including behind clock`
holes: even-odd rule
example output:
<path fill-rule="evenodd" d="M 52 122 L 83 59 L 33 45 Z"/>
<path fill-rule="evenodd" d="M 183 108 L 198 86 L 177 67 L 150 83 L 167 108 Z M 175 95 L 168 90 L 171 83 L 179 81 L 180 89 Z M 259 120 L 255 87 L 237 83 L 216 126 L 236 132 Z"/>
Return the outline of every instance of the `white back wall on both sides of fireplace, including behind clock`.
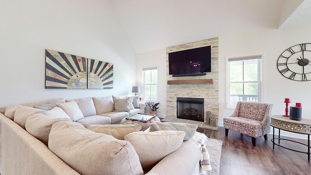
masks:
<path fill-rule="evenodd" d="M 258 54 L 263 54 L 264 102 L 274 105 L 272 114 L 285 114 L 284 99 L 290 98 L 292 102 L 290 106 L 297 102 L 302 103 L 302 118 L 311 119 L 311 100 L 309 98 L 311 81 L 289 80 L 283 77 L 276 67 L 276 61 L 283 51 L 296 44 L 310 43 L 310 30 L 311 25 L 305 25 L 287 29 L 271 28 L 241 35 L 219 37 L 219 125 L 223 125 L 224 117 L 233 113 L 233 109 L 225 108 L 225 58 Z M 141 76 L 141 67 L 156 64 L 160 65 L 160 68 L 165 66 L 165 49 L 138 54 L 138 77 Z M 165 71 L 163 70 L 163 76 L 159 75 L 159 77 L 164 79 L 164 75 Z M 166 105 L 165 100 L 162 100 L 166 95 L 166 80 L 163 79 L 160 78 L 160 81 L 163 81 L 163 86 L 159 86 L 160 100 L 163 101 L 161 111 Z M 304 135 L 290 132 L 282 131 L 281 134 L 306 139 Z"/>

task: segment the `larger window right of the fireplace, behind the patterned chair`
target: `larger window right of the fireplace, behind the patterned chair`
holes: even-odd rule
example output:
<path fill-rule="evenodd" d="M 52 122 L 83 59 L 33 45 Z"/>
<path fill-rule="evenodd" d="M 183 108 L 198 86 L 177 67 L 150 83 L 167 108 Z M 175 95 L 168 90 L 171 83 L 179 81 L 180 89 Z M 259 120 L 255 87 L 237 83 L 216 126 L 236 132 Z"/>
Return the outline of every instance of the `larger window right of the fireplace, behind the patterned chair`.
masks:
<path fill-rule="evenodd" d="M 238 101 L 261 102 L 261 55 L 228 58 L 227 107 Z"/>

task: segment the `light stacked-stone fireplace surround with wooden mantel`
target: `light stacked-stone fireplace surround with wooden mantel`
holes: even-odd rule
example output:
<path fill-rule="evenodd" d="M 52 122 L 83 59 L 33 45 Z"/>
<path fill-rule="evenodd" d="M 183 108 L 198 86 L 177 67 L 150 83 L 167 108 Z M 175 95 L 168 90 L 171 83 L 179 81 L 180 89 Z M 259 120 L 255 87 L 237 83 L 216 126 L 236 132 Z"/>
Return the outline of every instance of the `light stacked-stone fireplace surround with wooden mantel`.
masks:
<path fill-rule="evenodd" d="M 198 47 L 211 46 L 211 72 L 206 75 L 173 77 L 169 75 L 168 53 Z M 218 122 L 218 37 L 166 48 L 166 117 L 177 118 L 177 97 L 204 98 L 204 122 L 206 112 L 211 111 Z"/>

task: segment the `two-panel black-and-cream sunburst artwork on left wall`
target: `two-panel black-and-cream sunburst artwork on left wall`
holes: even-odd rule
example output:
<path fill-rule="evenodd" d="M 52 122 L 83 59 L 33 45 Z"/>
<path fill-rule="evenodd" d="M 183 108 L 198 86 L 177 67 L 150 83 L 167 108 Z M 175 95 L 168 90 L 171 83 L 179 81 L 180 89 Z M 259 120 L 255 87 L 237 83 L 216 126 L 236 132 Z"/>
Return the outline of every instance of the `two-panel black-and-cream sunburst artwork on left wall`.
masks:
<path fill-rule="evenodd" d="M 113 88 L 113 64 L 45 50 L 45 88 Z"/>

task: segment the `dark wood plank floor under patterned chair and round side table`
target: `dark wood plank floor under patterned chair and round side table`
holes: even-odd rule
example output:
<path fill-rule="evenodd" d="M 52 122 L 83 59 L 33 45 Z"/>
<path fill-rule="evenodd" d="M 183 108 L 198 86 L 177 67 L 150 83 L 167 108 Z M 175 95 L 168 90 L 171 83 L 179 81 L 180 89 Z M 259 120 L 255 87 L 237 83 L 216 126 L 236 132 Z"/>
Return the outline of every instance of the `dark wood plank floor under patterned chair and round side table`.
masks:
<path fill-rule="evenodd" d="M 205 133 L 208 138 L 223 140 L 220 162 L 220 175 L 311 175 L 311 162 L 308 155 L 298 153 L 275 145 L 273 150 L 272 134 L 268 140 L 263 136 L 257 138 L 256 146 L 252 146 L 251 137 L 230 131 L 225 137 L 224 127 L 218 131 L 197 129 Z M 305 135 L 307 139 L 307 135 Z M 307 140 L 282 137 L 305 144 Z M 280 140 L 281 145 L 299 150 L 308 151 L 308 147 L 291 141 Z"/>

